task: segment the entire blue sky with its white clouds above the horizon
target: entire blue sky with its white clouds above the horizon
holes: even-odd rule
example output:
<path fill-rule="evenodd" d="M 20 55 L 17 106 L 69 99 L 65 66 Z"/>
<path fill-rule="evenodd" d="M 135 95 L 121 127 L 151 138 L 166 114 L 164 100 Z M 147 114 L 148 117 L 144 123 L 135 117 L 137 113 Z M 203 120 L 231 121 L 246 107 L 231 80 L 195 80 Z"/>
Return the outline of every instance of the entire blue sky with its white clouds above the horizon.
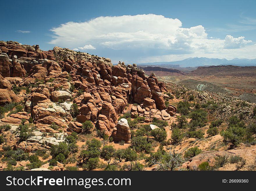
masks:
<path fill-rule="evenodd" d="M 256 1 L 2 1 L 0 40 L 126 63 L 256 58 Z M 130 16 L 123 16 L 130 15 Z"/>

